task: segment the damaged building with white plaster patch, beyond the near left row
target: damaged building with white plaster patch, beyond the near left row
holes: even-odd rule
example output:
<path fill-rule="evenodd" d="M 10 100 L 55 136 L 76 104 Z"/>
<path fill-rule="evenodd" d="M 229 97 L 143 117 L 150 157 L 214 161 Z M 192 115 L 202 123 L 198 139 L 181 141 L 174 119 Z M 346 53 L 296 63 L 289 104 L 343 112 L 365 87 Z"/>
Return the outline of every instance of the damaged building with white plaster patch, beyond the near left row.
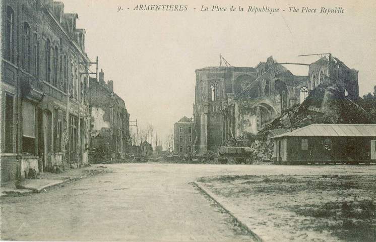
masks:
<path fill-rule="evenodd" d="M 124 101 L 113 92 L 113 81 L 90 78 L 89 109 L 91 116 L 90 148 L 121 157 L 131 145 L 129 117 Z"/>

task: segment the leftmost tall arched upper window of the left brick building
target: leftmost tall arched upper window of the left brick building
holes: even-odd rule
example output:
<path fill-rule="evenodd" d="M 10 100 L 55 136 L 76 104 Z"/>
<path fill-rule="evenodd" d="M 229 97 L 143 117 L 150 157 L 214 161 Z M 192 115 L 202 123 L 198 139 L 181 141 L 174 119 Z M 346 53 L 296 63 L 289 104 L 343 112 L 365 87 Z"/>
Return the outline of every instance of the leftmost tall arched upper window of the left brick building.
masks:
<path fill-rule="evenodd" d="M 5 29 L 5 58 L 15 63 L 15 46 L 14 46 L 14 11 L 11 7 L 7 7 L 7 22 Z"/>

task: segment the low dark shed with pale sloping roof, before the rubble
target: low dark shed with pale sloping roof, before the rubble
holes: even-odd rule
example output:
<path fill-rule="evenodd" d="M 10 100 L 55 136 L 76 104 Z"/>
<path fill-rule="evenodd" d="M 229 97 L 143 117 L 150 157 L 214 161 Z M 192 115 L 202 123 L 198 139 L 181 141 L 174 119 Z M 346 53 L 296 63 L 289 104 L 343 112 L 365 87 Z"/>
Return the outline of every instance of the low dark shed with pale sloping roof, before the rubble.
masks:
<path fill-rule="evenodd" d="M 272 139 L 275 162 L 376 162 L 376 124 L 313 124 Z"/>

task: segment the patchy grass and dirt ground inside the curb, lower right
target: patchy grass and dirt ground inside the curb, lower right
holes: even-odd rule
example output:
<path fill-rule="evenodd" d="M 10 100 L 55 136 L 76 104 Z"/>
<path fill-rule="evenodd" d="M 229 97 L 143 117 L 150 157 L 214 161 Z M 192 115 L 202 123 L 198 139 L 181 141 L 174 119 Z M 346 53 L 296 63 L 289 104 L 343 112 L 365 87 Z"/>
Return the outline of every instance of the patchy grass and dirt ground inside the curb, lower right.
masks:
<path fill-rule="evenodd" d="M 265 232 L 258 235 L 267 241 L 376 239 L 375 175 L 236 175 L 198 181 Z"/>

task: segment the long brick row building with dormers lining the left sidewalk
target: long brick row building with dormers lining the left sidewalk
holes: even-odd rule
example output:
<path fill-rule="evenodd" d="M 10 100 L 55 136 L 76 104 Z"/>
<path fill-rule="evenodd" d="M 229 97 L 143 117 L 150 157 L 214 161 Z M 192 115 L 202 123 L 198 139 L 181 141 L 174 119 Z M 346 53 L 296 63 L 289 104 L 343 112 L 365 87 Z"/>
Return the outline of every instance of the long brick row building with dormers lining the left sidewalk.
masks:
<path fill-rule="evenodd" d="M 2 0 L 1 175 L 87 163 L 85 30 L 52 0 Z"/>

